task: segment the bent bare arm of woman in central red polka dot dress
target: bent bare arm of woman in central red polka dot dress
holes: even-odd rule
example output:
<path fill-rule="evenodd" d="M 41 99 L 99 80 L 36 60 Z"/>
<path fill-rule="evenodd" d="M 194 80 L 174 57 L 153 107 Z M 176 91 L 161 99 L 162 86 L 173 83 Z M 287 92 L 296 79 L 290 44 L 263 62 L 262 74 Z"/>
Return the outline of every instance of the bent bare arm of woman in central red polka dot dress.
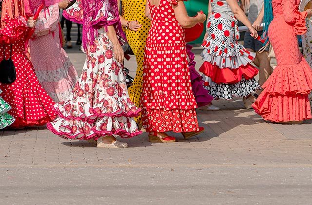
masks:
<path fill-rule="evenodd" d="M 173 8 L 176 20 L 183 28 L 191 28 L 197 23 L 203 23 L 206 21 L 206 15 L 201 12 L 198 12 L 196 17 L 189 17 L 182 0 L 178 0 L 177 5 L 173 5 Z"/>

